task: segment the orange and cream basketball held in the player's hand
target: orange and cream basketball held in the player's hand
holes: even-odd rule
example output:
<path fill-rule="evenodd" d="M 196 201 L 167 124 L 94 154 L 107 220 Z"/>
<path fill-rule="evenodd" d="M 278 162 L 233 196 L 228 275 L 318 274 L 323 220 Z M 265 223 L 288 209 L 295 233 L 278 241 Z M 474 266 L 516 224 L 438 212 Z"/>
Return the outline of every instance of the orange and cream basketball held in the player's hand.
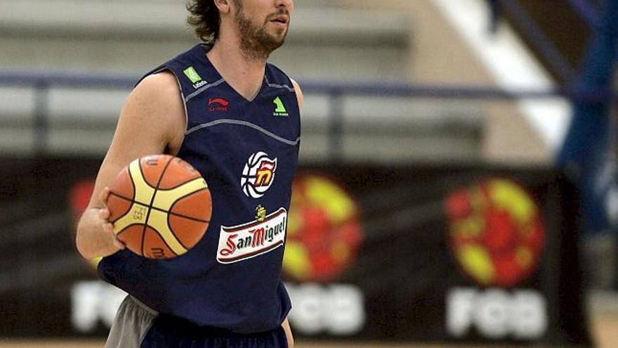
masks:
<path fill-rule="evenodd" d="M 195 247 L 208 228 L 208 185 L 188 162 L 151 155 L 129 163 L 110 186 L 114 233 L 132 252 L 171 259 Z"/>

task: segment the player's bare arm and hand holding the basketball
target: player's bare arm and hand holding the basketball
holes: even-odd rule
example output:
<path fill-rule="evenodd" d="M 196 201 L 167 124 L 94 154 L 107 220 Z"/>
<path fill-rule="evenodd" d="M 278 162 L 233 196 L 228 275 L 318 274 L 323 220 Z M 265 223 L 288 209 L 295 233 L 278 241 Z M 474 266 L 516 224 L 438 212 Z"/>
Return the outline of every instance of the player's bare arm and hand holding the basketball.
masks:
<path fill-rule="evenodd" d="M 124 248 L 108 220 L 108 187 L 131 160 L 166 150 L 176 154 L 185 128 L 184 104 L 171 72 L 146 77 L 131 92 L 99 169 L 91 201 L 79 219 L 76 245 L 82 257 L 105 257 Z"/>

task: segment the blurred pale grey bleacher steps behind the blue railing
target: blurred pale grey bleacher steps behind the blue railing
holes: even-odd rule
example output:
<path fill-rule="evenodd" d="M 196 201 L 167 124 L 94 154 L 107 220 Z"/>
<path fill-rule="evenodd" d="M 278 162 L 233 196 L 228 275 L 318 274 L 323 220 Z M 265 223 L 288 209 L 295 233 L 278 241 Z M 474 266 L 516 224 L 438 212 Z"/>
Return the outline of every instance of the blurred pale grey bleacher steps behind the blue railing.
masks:
<path fill-rule="evenodd" d="M 180 0 L 0 0 L 1 70 L 137 77 L 197 42 L 185 24 L 183 4 Z M 296 5 L 287 44 L 273 54 L 272 62 L 299 81 L 408 79 L 412 32 L 407 15 L 350 8 L 340 1 L 297 0 Z M 324 6 L 329 11 L 324 12 Z M 52 86 L 47 96 L 48 151 L 102 153 L 127 93 Z M 1 149 L 32 152 L 37 136 L 32 129 L 34 94 L 30 87 L 0 86 Z M 330 110 L 327 96 L 306 97 L 304 159 L 329 154 Z M 439 101 L 344 96 L 342 110 L 343 154 L 352 160 L 480 155 L 485 115 L 473 103 L 461 108 Z"/>

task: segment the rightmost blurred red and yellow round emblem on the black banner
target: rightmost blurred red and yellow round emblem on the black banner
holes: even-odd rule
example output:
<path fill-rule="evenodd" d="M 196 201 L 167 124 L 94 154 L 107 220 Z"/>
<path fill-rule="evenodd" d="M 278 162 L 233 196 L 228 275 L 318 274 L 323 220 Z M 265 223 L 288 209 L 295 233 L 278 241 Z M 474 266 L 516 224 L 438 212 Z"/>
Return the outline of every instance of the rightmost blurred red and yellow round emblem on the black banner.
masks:
<path fill-rule="evenodd" d="M 454 257 L 476 283 L 511 287 L 537 269 L 545 231 L 537 203 L 518 183 L 481 181 L 455 191 L 445 205 Z"/>

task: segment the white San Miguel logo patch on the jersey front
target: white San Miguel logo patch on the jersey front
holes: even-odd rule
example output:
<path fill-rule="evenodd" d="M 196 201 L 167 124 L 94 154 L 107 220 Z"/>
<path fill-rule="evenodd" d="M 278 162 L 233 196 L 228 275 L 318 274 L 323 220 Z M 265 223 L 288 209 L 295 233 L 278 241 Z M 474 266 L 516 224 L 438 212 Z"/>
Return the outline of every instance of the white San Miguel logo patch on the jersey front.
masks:
<path fill-rule="evenodd" d="M 287 211 L 263 216 L 263 208 L 256 210 L 257 219 L 247 224 L 221 226 L 217 261 L 233 264 L 271 252 L 284 244 L 287 224 Z"/>

